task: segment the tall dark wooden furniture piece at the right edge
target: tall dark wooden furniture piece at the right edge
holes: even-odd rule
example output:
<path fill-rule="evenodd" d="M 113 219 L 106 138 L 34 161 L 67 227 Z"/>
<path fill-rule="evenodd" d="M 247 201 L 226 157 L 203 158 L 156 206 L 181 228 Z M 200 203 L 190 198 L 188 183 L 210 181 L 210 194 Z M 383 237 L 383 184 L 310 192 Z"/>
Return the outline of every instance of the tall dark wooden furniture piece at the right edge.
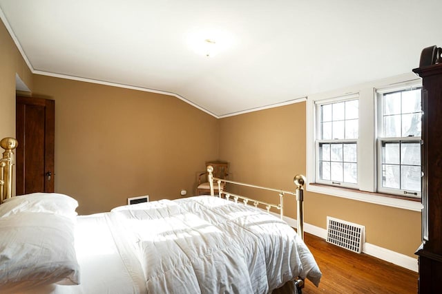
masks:
<path fill-rule="evenodd" d="M 434 46 L 436 47 L 436 46 Z M 442 63 L 440 48 L 427 56 L 425 48 L 419 68 L 422 78 L 422 244 L 419 255 L 419 293 L 440 293 L 442 281 Z M 432 53 L 433 52 L 433 53 Z M 429 64 L 427 61 L 430 60 Z M 438 63 L 439 62 L 439 63 Z"/>

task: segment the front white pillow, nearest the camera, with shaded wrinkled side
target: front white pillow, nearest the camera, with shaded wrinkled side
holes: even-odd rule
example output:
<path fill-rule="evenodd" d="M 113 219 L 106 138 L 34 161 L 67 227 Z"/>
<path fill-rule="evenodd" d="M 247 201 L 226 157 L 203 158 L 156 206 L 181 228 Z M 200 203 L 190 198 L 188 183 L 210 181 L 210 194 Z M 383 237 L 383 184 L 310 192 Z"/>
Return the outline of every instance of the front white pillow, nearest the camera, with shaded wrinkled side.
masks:
<path fill-rule="evenodd" d="M 0 293 L 79 284 L 74 231 L 74 220 L 54 213 L 0 218 Z"/>

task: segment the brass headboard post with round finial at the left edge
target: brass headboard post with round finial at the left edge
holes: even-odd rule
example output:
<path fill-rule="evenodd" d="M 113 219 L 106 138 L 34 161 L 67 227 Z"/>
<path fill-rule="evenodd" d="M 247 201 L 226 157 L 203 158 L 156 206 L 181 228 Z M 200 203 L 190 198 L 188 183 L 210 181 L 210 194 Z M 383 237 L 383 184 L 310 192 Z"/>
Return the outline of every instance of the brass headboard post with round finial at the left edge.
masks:
<path fill-rule="evenodd" d="M 5 149 L 0 159 L 0 204 L 12 196 L 12 165 L 14 165 L 14 150 L 19 145 L 15 138 L 0 140 L 1 148 Z"/>

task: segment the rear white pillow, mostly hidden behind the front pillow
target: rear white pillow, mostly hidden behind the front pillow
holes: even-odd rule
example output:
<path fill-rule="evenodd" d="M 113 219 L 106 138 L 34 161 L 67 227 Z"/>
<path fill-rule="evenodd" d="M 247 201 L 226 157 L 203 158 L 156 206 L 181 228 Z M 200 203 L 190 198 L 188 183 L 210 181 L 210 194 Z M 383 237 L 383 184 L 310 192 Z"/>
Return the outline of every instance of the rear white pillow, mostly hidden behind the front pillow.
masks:
<path fill-rule="evenodd" d="M 6 199 L 0 205 L 0 218 L 21 212 L 55 213 L 67 218 L 76 218 L 78 202 L 59 193 L 32 193 Z"/>

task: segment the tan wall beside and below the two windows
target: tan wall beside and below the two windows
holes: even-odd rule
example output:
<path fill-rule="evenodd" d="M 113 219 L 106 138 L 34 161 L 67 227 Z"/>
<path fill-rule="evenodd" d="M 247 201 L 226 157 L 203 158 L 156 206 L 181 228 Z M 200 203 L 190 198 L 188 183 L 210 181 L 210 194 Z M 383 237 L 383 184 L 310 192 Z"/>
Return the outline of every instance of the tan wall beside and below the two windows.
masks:
<path fill-rule="evenodd" d="M 294 191 L 293 177 L 306 172 L 306 105 L 222 118 L 220 157 L 231 162 L 231 179 Z M 309 192 L 304 205 L 308 224 L 326 229 L 327 216 L 363 224 L 370 244 L 416 258 L 421 213 Z M 296 218 L 293 198 L 285 215 Z"/>

